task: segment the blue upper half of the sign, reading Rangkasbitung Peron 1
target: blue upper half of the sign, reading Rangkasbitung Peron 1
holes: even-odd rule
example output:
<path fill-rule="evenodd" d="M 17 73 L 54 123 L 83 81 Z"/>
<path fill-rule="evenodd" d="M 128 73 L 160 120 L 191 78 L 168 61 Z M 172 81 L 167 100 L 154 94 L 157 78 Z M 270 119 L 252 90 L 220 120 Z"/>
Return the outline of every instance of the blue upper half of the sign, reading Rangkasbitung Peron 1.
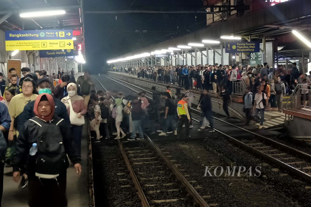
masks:
<path fill-rule="evenodd" d="M 5 40 L 72 39 L 72 29 L 65 30 L 13 30 L 5 31 Z"/>

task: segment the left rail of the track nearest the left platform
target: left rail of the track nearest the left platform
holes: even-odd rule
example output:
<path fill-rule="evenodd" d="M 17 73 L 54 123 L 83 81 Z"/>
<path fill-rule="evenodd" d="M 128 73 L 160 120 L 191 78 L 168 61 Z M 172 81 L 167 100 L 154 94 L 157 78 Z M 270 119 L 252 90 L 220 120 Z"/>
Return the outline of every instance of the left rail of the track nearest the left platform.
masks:
<path fill-rule="evenodd" d="M 137 176 L 132 168 L 132 165 L 130 163 L 130 160 L 128 160 L 128 156 L 126 155 L 126 152 L 123 148 L 123 145 L 121 143 L 121 141 L 118 139 L 118 144 L 119 144 L 119 148 L 120 148 L 120 151 L 122 153 L 122 156 L 123 156 L 123 159 L 125 161 L 125 164 L 128 168 L 128 171 L 130 172 L 130 175 L 132 177 L 132 180 L 133 180 L 133 183 L 135 185 L 135 188 L 137 190 L 137 194 L 138 194 L 138 197 L 140 198 L 141 202 L 142 202 L 142 206 L 143 207 L 150 207 L 148 201 L 147 201 L 147 198 L 144 194 L 144 191 L 142 190 L 142 186 L 140 185 L 138 179 L 137 179 Z"/>

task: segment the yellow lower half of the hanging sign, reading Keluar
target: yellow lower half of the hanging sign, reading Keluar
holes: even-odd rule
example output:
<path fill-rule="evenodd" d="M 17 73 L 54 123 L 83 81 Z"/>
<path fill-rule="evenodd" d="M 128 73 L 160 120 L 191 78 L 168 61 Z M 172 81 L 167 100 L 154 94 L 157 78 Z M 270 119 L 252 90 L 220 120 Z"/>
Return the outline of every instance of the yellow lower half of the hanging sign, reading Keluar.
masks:
<path fill-rule="evenodd" d="M 59 40 L 9 40 L 5 41 L 6 50 L 67 50 L 73 49 L 72 39 Z"/>

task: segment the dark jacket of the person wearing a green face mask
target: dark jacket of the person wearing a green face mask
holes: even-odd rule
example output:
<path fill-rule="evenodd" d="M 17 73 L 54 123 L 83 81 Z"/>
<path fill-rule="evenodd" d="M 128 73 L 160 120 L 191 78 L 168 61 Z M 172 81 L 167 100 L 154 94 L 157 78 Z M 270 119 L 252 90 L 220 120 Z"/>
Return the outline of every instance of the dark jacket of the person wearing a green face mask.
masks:
<path fill-rule="evenodd" d="M 58 99 L 54 98 L 54 103 L 55 103 L 55 115 L 58 117 L 64 119 L 67 124 L 70 124 L 70 119 L 69 115 L 67 113 L 67 109 L 65 104 L 63 104 L 62 101 L 59 101 Z M 32 117 L 35 116 L 34 113 L 34 106 L 35 106 L 35 101 L 29 101 L 29 103 L 26 104 L 24 107 L 23 112 L 21 112 L 20 115 L 18 115 L 18 120 L 17 120 L 17 131 L 21 131 L 21 129 L 24 126 L 24 123 L 28 120 L 31 119 Z"/>

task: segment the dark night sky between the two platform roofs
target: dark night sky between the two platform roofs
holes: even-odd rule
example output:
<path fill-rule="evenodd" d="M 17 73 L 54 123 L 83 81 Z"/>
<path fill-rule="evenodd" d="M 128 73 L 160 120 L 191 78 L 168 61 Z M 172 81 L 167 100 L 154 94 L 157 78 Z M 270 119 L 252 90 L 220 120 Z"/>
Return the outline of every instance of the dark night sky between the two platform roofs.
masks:
<path fill-rule="evenodd" d="M 92 0 L 84 1 L 84 4 L 84 11 L 204 11 L 202 0 Z M 206 15 L 202 13 L 85 14 L 84 20 L 86 47 L 84 67 L 94 73 L 108 66 L 106 61 L 109 58 L 188 34 L 206 26 Z"/>

